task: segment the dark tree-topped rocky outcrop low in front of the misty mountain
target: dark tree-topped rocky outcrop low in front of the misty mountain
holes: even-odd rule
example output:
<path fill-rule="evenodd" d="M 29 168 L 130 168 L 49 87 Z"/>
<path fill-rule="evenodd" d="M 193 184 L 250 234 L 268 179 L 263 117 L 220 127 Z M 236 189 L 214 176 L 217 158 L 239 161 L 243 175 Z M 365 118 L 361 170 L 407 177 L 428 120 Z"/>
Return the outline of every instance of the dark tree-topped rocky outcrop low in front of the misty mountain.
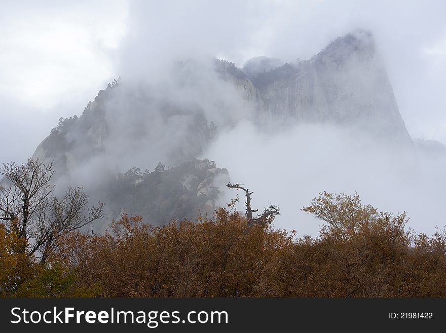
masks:
<path fill-rule="evenodd" d="M 133 167 L 125 174 L 110 179 L 105 193 L 113 207 L 110 216 L 121 208 L 139 214 L 153 224 L 172 219 L 195 219 L 213 213 L 219 199 L 219 188 L 229 181 L 228 170 L 217 168 L 208 159 L 193 159 L 166 170 L 141 173 Z"/>

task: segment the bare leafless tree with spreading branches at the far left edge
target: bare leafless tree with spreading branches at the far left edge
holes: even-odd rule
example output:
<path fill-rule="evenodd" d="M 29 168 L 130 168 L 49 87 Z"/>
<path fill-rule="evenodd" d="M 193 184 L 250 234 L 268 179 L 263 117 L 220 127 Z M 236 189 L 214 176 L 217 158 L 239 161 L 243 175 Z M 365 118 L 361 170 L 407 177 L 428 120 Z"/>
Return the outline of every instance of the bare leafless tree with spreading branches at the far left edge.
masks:
<path fill-rule="evenodd" d="M 41 262 L 59 237 L 104 216 L 103 203 L 87 208 L 88 196 L 80 187 L 69 187 L 61 199 L 53 195 L 52 164 L 29 159 L 21 166 L 3 164 L 0 174 L 0 221 L 7 232 L 25 240 L 21 250 Z"/>

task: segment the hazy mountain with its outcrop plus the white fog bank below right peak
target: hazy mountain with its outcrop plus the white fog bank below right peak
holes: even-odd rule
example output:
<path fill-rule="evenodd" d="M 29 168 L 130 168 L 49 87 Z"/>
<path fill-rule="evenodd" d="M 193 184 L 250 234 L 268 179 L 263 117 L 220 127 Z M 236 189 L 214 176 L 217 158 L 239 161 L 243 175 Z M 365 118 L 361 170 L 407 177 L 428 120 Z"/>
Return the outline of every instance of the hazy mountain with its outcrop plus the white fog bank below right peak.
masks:
<path fill-rule="evenodd" d="M 324 190 L 358 190 L 370 202 L 395 191 L 399 209 L 407 177 L 426 176 L 426 146 L 407 132 L 373 35 L 355 30 L 309 60 L 260 57 L 240 69 L 186 59 L 142 82 L 114 81 L 79 118 L 61 119 L 33 157 L 54 161 L 59 188 L 81 183 L 104 201 L 108 219 L 122 209 L 155 224 L 211 213 L 236 195 L 222 188 L 230 176 L 259 206 L 281 204 L 291 223 L 295 202 Z M 166 170 L 149 171 L 159 162 Z"/>

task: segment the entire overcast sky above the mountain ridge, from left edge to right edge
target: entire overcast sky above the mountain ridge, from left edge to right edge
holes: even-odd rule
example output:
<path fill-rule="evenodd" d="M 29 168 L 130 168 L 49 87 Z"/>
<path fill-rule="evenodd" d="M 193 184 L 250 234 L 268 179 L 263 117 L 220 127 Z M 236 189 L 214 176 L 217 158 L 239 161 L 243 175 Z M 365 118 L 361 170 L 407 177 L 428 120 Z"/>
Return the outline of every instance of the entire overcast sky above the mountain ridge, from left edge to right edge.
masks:
<path fill-rule="evenodd" d="M 358 27 L 375 35 L 411 135 L 446 143 L 444 1 L 0 2 L 0 162 L 26 160 L 119 76 L 208 55 L 307 59 Z"/>

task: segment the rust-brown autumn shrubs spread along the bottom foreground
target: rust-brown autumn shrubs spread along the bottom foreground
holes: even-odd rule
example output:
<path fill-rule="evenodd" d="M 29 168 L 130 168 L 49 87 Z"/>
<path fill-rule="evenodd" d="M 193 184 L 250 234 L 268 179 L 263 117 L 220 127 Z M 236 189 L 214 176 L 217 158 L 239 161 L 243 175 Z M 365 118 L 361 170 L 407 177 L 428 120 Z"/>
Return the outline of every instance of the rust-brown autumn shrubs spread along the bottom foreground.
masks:
<path fill-rule="evenodd" d="M 52 280 L 66 283 L 61 294 L 75 296 L 446 296 L 444 231 L 415 234 L 404 213 L 379 212 L 357 195 L 322 193 L 303 210 L 325 221 L 318 237 L 248 228 L 232 205 L 162 227 L 124 214 L 105 234 L 67 233 L 46 267 L 59 270 Z M 22 258 L 1 260 L 4 275 L 19 275 L 14 263 Z M 39 286 L 42 273 L 35 276 Z"/>

